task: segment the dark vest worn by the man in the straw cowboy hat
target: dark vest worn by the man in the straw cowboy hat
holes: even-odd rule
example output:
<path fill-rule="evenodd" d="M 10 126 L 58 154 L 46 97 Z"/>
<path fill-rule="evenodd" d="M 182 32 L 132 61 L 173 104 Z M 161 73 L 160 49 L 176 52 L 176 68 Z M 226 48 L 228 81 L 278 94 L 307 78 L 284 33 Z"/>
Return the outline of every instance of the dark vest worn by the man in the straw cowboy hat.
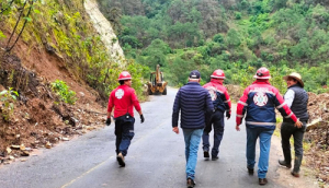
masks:
<path fill-rule="evenodd" d="M 291 106 L 292 111 L 296 115 L 297 118 L 299 118 L 300 121 L 307 121 L 308 94 L 299 84 L 292 85 L 288 89 L 295 92 L 295 97 Z M 291 121 L 291 119 L 284 118 L 284 121 Z"/>

